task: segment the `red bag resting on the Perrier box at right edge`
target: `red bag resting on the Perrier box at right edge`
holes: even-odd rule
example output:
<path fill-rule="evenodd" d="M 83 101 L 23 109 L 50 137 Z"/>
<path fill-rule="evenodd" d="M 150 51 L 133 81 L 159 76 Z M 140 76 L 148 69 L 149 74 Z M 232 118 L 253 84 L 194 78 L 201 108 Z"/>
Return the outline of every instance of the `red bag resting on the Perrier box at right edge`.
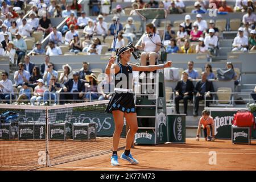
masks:
<path fill-rule="evenodd" d="M 254 126 L 255 129 L 254 120 L 254 115 L 250 111 L 238 110 L 232 123 L 238 127 Z"/>

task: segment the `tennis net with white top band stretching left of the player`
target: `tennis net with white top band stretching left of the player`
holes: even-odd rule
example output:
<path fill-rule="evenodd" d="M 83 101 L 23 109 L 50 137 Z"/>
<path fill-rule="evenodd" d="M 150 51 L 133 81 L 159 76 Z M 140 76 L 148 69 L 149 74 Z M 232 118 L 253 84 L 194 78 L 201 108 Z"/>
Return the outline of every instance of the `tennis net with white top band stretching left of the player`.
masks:
<path fill-rule="evenodd" d="M 31 170 L 112 151 L 109 101 L 56 106 L 0 105 L 0 170 Z M 119 147 L 125 147 L 124 122 Z"/>

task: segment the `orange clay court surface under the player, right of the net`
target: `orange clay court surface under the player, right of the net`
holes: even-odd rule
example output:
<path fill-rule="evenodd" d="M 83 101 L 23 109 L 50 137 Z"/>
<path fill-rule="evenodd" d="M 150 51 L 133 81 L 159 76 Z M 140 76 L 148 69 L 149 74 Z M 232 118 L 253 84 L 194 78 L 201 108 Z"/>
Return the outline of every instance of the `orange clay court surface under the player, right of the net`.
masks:
<path fill-rule="evenodd" d="M 216 152 L 216 164 L 209 164 L 210 151 Z M 121 155 L 123 151 L 118 151 Z M 111 154 L 59 164 L 38 170 L 256 170 L 256 140 L 250 145 L 232 144 L 231 140 L 206 142 L 187 138 L 186 144 L 135 146 L 131 150 L 139 160 L 131 165 L 119 159 L 121 166 L 112 167 Z"/>

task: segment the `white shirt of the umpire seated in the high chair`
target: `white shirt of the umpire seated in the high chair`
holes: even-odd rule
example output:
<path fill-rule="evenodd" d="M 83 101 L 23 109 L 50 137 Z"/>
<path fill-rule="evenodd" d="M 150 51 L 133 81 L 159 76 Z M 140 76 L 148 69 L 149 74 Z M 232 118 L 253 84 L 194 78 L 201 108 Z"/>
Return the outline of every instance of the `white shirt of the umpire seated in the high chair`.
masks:
<path fill-rule="evenodd" d="M 144 52 L 154 52 L 156 49 L 156 45 L 154 43 L 156 44 L 161 43 L 161 38 L 158 34 L 154 34 L 151 39 L 152 41 L 150 40 L 147 34 L 143 35 L 142 44 L 143 43 L 145 44 Z"/>

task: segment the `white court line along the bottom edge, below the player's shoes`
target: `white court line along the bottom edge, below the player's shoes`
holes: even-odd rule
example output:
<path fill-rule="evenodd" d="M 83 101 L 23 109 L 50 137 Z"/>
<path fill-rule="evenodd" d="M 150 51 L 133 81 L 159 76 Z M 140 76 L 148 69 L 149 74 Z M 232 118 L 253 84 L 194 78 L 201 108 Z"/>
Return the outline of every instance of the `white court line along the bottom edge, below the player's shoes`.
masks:
<path fill-rule="evenodd" d="M 119 167 L 69 167 L 69 166 L 60 166 L 60 167 L 54 167 L 51 166 L 51 168 L 72 168 L 72 169 L 113 169 L 113 170 L 117 170 L 117 169 L 122 169 L 122 170 L 130 170 L 130 171 L 170 171 L 168 169 L 143 169 L 143 168 L 119 168 Z"/>

